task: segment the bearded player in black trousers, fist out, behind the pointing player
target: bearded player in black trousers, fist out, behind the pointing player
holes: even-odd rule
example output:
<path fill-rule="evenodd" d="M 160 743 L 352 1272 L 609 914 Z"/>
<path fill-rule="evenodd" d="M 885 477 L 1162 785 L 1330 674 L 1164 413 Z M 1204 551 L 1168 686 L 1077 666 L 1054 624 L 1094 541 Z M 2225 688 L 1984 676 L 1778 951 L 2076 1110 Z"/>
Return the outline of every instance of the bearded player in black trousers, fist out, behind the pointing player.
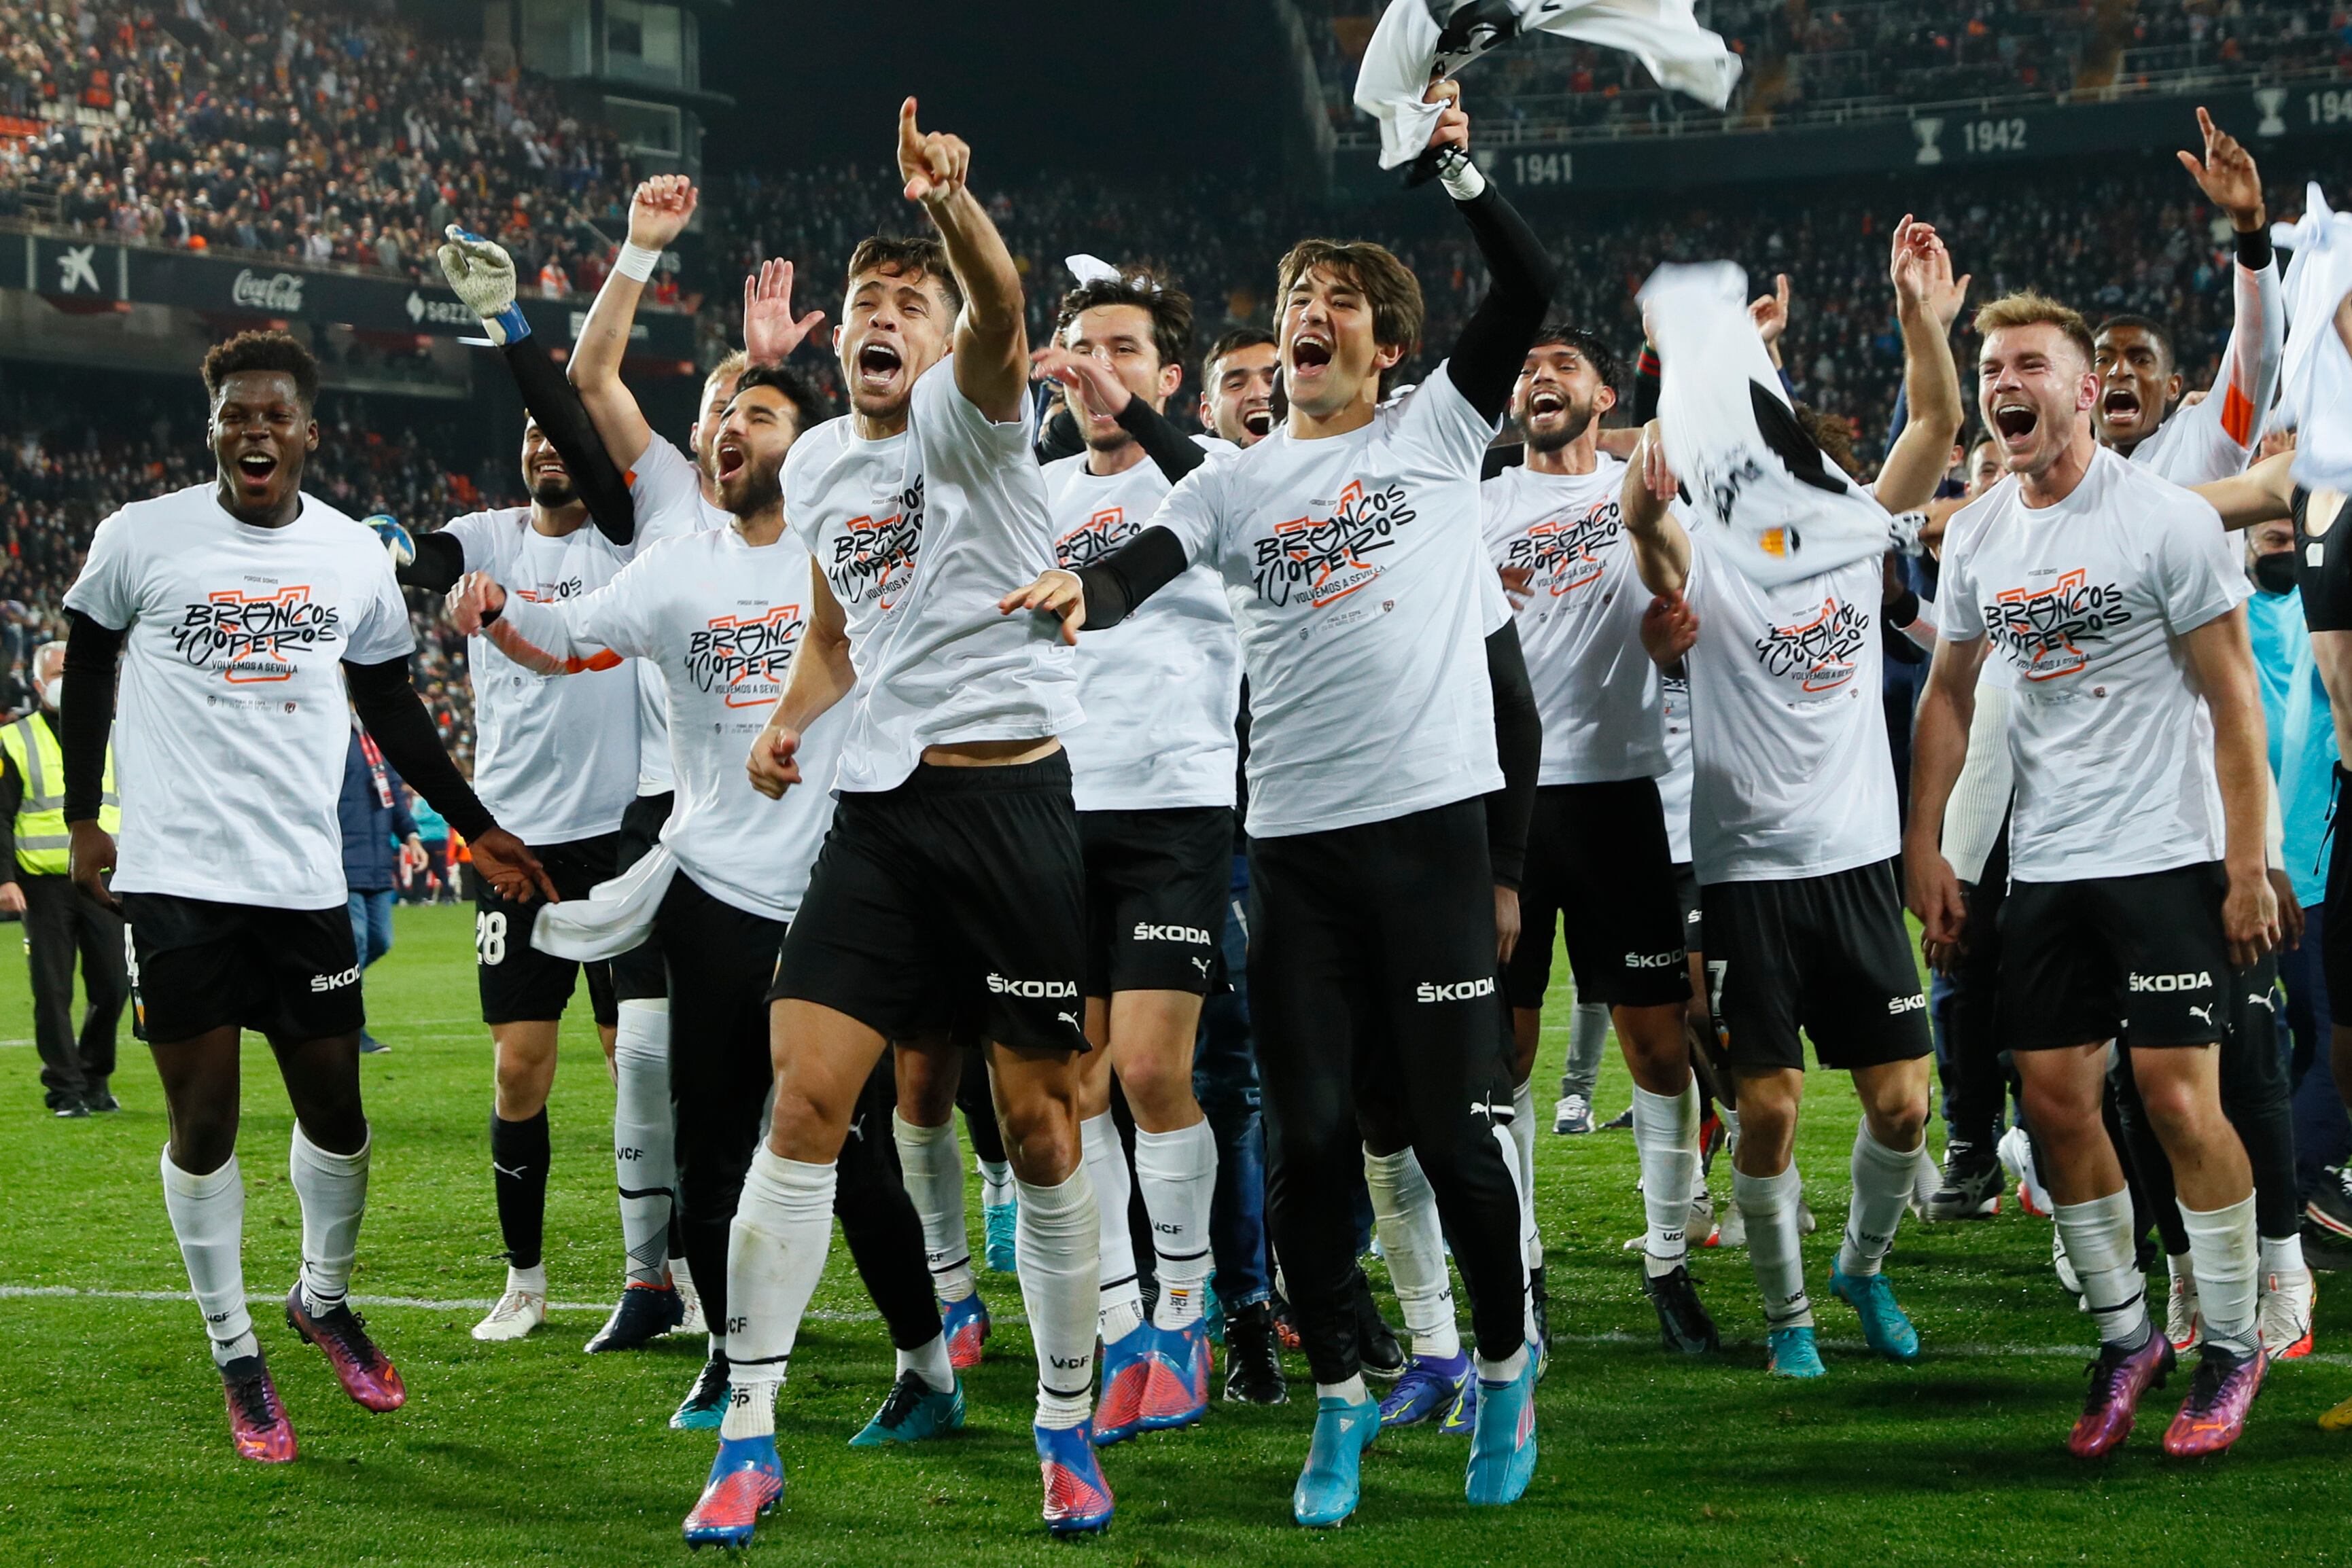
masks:
<path fill-rule="evenodd" d="M 818 411 L 790 371 L 748 369 L 713 440 L 720 496 L 734 517 L 727 529 L 675 529 L 649 510 L 644 522 L 663 541 L 595 592 L 536 602 L 477 574 L 461 599 L 468 623 L 494 621 L 522 658 L 548 672 L 579 668 L 597 651 L 656 661 L 663 670 L 680 806 L 661 844 L 677 875 L 652 933 L 675 978 L 677 1030 L 666 1081 L 677 1107 L 680 1227 L 717 1324 L 727 1321 L 727 1232 L 774 1077 L 767 985 L 833 820 L 826 792 L 800 790 L 779 806 L 753 790 L 741 764 L 741 748 L 760 733 L 807 630 L 809 548 L 786 531 L 781 470 L 793 437 Z M 673 505 L 701 501 L 687 494 Z M 840 731 L 837 719 L 816 726 L 804 752 L 811 766 L 835 755 Z M 858 1272 L 898 1347 L 896 1387 L 854 1439 L 861 1446 L 915 1441 L 964 1422 L 922 1227 L 880 1138 L 891 1098 L 889 1074 L 875 1072 L 835 1199 Z M 673 1425 L 717 1427 L 724 1401 L 722 1342 Z"/>

